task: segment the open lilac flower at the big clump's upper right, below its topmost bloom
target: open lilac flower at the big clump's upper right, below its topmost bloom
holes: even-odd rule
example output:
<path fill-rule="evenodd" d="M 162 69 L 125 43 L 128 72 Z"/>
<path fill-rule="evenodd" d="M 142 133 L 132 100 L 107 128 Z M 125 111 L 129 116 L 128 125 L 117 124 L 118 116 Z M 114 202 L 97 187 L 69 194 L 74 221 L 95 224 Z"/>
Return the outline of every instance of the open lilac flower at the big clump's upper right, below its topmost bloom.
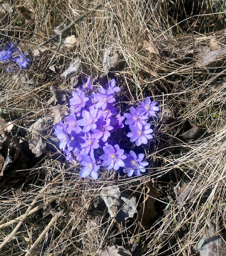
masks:
<path fill-rule="evenodd" d="M 105 91 L 102 87 L 99 89 L 99 93 L 97 93 L 94 98 L 98 101 L 95 108 L 101 108 L 102 110 L 105 110 L 107 103 L 112 103 L 115 101 L 114 92 L 112 89 Z"/>

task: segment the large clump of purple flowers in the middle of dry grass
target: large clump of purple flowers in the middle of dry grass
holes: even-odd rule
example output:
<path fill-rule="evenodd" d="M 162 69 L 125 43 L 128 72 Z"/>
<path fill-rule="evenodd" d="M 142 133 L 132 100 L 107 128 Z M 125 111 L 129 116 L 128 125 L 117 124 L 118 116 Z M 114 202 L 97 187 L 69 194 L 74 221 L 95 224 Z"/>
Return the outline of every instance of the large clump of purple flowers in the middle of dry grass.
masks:
<path fill-rule="evenodd" d="M 87 83 L 76 88 L 69 100 L 70 115 L 65 117 L 64 123 L 60 121 L 54 126 L 54 134 L 60 140 L 60 149 L 63 149 L 69 161 L 76 158 L 83 166 L 81 177 L 91 175 L 97 179 L 101 166 L 115 171 L 122 167 L 128 176 L 139 176 L 148 165 L 148 162 L 143 161 L 145 155 L 136 155 L 133 150 L 125 153 L 123 145 L 120 147 L 115 142 L 114 135 L 119 130 L 125 134 L 123 128 L 129 125 L 127 137 L 130 141 L 135 142 L 136 146 L 147 144 L 153 132 L 147 121 L 159 110 L 157 103 L 151 102 L 148 97 L 138 107 L 130 107 L 129 113 L 121 115 L 115 98 L 121 89 L 116 86 L 115 80 L 112 79 L 105 88 L 98 88 L 97 93 L 92 90 L 91 82 L 89 76 Z"/>

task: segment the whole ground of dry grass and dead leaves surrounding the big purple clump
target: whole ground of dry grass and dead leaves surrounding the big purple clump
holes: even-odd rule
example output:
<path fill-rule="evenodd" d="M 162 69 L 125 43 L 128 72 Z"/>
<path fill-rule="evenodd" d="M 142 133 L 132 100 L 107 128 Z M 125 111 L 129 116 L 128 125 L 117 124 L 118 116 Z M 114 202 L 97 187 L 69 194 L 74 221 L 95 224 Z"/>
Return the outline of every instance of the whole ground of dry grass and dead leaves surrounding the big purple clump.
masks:
<path fill-rule="evenodd" d="M 226 10 L 210 2 L 0 3 L 0 256 L 225 255 Z M 59 148 L 89 76 L 115 79 L 121 115 L 157 102 L 148 143 L 114 135 L 141 175 L 81 178 Z"/>

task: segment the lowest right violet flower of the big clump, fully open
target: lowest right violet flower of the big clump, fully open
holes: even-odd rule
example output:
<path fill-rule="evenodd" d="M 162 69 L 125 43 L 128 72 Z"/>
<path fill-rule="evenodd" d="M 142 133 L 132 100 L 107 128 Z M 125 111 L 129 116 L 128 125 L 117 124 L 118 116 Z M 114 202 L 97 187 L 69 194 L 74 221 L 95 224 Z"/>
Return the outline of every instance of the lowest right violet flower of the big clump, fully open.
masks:
<path fill-rule="evenodd" d="M 145 162 L 143 160 L 144 154 L 136 154 L 134 151 L 130 150 L 129 154 L 125 154 L 126 159 L 124 160 L 125 162 L 125 167 L 123 168 L 123 172 L 127 173 L 129 177 L 132 176 L 134 173 L 136 176 L 140 176 L 141 172 L 145 172 L 144 166 L 148 165 L 148 162 Z"/>

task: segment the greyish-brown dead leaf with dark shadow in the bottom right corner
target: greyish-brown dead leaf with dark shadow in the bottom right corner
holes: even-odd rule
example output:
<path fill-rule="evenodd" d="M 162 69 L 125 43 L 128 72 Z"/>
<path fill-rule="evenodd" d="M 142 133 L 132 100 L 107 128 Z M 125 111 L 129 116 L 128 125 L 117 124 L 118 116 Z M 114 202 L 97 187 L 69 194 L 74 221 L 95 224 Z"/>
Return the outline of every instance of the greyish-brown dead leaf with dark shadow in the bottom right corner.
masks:
<path fill-rule="evenodd" d="M 222 239 L 222 232 L 216 230 L 216 226 L 209 222 L 207 223 L 205 245 L 199 250 L 200 256 L 225 256 L 226 243 Z M 219 229 L 218 229 L 219 230 Z"/>

